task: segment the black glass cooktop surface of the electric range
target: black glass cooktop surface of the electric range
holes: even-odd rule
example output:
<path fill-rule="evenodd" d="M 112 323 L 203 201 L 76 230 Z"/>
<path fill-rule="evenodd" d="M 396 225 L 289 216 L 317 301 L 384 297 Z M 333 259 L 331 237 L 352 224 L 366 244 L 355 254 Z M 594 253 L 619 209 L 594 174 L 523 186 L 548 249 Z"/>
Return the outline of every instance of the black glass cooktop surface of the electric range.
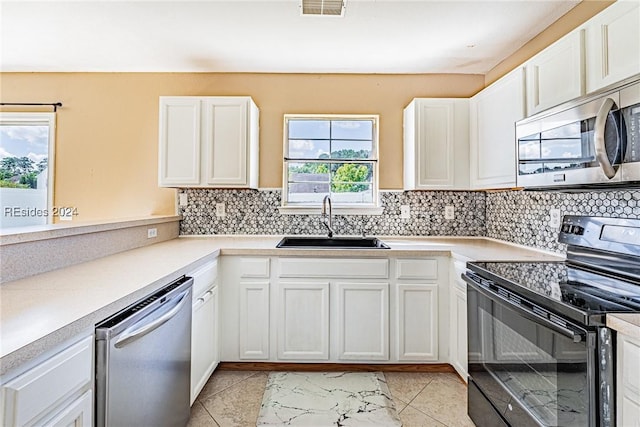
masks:
<path fill-rule="evenodd" d="M 567 262 L 471 262 L 468 267 L 485 280 L 584 325 L 602 324 L 606 313 L 640 312 L 640 282 Z"/>

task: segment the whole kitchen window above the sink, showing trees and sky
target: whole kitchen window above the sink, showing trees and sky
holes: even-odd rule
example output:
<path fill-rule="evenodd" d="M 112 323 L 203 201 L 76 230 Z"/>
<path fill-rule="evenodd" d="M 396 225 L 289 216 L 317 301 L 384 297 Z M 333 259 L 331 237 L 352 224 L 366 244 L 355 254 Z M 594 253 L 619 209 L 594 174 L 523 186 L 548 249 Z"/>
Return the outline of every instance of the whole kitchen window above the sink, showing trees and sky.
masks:
<path fill-rule="evenodd" d="M 282 211 L 378 213 L 378 116 L 284 117 Z M 308 211 L 308 212 L 307 212 Z"/>

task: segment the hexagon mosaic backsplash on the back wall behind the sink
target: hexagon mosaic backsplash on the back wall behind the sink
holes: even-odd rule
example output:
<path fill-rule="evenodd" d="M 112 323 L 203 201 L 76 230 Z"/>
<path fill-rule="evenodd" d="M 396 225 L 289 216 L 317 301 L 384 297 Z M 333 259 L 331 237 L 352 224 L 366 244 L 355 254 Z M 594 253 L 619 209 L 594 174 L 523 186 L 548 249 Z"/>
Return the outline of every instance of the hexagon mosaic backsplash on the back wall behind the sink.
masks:
<path fill-rule="evenodd" d="M 188 204 L 182 208 L 180 234 L 325 234 L 317 215 L 283 215 L 279 190 L 182 189 Z M 338 235 L 484 236 L 485 195 L 472 191 L 382 192 L 382 215 L 334 215 Z M 216 217 L 216 203 L 225 203 L 226 216 Z M 400 218 L 409 205 L 411 217 Z M 455 219 L 444 219 L 453 206 Z"/>

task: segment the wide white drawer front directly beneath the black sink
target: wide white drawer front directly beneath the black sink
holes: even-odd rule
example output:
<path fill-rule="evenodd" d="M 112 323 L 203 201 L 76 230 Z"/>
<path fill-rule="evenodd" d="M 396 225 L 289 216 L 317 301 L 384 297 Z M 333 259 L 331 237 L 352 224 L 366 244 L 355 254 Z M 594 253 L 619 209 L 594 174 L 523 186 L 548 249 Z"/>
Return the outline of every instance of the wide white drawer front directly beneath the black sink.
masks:
<path fill-rule="evenodd" d="M 281 258 L 280 277 L 386 279 L 388 259 Z"/>

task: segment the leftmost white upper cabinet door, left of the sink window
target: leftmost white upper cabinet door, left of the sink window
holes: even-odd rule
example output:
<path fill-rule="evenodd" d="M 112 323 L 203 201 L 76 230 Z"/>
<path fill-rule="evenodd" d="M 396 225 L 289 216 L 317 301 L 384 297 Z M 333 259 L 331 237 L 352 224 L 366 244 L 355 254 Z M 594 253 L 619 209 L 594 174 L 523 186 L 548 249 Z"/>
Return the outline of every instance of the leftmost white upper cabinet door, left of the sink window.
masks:
<path fill-rule="evenodd" d="M 161 187 L 200 183 L 200 99 L 160 97 L 158 174 Z"/>

